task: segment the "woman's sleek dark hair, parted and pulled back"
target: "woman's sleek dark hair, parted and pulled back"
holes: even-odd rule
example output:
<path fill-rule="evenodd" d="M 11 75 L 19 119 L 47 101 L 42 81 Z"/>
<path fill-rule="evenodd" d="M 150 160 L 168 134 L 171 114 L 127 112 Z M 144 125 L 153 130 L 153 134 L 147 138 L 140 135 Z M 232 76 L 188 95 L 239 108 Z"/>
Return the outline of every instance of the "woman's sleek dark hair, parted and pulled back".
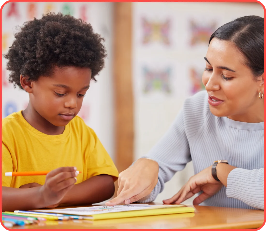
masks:
<path fill-rule="evenodd" d="M 237 18 L 219 27 L 210 37 L 234 42 L 246 58 L 253 75 L 264 73 L 264 18 L 250 15 Z"/>

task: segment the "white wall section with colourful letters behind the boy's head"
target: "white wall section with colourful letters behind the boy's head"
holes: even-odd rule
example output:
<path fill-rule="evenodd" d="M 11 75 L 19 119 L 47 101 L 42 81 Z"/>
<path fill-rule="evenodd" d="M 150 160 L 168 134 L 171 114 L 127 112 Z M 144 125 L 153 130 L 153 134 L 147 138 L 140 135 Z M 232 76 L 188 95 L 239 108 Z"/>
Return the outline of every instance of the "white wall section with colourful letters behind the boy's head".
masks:
<path fill-rule="evenodd" d="M 5 54 L 14 39 L 16 26 L 45 12 L 61 12 L 82 18 L 92 24 L 94 31 L 105 38 L 108 57 L 105 68 L 92 82 L 79 112 L 85 123 L 93 128 L 109 155 L 114 158 L 114 103 L 113 103 L 113 3 L 112 2 L 10 2 L 3 7 L 2 53 Z M 7 81 L 6 59 L 2 57 L 2 118 L 24 110 L 28 103 L 25 91 L 14 89 Z"/>

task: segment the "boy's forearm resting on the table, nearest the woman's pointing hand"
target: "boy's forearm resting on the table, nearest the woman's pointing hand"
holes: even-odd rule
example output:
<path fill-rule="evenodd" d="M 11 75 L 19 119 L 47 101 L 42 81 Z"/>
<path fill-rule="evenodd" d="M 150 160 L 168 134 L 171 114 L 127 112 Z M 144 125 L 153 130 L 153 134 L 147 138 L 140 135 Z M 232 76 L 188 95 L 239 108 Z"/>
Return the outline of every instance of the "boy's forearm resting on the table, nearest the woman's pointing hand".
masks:
<path fill-rule="evenodd" d="M 98 175 L 74 185 L 65 195 L 60 204 L 85 205 L 108 200 L 114 195 L 113 177 Z"/>

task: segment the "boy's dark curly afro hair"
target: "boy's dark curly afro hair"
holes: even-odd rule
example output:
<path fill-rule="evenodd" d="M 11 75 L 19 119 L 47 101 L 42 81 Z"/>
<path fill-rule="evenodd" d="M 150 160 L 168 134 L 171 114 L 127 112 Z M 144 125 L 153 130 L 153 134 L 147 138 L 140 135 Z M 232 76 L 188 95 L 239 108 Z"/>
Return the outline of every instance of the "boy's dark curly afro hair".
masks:
<path fill-rule="evenodd" d="M 8 59 L 7 70 L 11 71 L 9 82 L 23 89 L 20 74 L 34 81 L 51 75 L 55 66 L 91 68 L 95 80 L 107 56 L 103 41 L 90 24 L 70 15 L 48 13 L 27 21 L 3 55 Z"/>

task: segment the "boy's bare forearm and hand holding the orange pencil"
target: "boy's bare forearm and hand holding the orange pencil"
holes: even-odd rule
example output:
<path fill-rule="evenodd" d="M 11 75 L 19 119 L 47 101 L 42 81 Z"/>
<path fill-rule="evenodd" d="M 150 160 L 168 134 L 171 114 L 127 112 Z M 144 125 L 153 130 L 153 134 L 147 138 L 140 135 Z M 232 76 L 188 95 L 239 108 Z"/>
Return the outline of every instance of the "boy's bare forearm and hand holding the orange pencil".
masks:
<path fill-rule="evenodd" d="M 45 184 L 40 187 L 2 186 L 2 211 L 31 210 L 58 204 L 77 182 L 76 170 L 74 167 L 54 169 L 47 174 Z"/>

